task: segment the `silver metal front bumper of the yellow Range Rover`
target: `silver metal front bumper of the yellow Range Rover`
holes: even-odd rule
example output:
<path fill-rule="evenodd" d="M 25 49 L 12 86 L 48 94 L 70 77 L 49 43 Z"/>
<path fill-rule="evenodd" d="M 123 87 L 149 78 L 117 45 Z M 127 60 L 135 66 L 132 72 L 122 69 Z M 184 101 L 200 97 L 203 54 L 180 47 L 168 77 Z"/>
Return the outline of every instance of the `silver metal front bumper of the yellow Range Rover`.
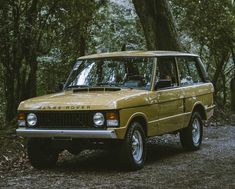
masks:
<path fill-rule="evenodd" d="M 94 138 L 94 139 L 116 139 L 114 130 L 51 130 L 51 129 L 16 129 L 18 136 L 30 138 Z"/>

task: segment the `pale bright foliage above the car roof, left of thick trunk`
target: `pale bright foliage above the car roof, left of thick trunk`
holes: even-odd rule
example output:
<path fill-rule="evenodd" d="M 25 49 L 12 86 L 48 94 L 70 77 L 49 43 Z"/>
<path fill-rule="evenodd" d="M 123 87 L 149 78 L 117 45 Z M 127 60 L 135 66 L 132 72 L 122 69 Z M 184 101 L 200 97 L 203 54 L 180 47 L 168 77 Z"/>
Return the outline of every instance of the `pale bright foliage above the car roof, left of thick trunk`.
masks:
<path fill-rule="evenodd" d="M 96 20 L 90 28 L 89 52 L 146 49 L 143 31 L 133 5 L 109 3 L 96 13 Z"/>

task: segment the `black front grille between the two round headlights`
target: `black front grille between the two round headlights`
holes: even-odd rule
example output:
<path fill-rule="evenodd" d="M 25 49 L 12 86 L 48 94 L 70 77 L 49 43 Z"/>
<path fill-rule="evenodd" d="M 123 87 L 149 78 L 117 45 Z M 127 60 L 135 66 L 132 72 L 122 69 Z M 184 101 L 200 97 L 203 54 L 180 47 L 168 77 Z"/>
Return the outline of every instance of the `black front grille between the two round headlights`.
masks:
<path fill-rule="evenodd" d="M 91 128 L 91 112 L 36 112 L 38 128 Z"/>

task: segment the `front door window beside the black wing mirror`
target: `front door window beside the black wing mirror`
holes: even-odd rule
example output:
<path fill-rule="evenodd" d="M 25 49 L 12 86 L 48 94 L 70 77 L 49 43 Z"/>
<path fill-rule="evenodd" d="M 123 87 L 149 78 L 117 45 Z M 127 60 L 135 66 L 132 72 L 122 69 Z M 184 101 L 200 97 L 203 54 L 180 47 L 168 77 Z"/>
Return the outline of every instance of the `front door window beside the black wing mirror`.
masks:
<path fill-rule="evenodd" d="M 158 89 L 167 89 L 178 86 L 176 64 L 174 57 L 160 57 L 157 59 L 156 86 Z"/>

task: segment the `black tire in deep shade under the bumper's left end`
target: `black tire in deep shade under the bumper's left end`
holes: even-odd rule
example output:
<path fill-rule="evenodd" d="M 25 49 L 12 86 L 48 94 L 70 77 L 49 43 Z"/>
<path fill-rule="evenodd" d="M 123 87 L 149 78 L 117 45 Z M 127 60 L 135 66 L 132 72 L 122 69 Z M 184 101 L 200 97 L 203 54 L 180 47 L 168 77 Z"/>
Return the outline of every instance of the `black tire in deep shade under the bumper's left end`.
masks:
<path fill-rule="evenodd" d="M 46 139 L 29 139 L 27 151 L 29 161 L 36 169 L 54 167 L 59 156 L 59 153 L 51 148 L 50 140 Z"/>

